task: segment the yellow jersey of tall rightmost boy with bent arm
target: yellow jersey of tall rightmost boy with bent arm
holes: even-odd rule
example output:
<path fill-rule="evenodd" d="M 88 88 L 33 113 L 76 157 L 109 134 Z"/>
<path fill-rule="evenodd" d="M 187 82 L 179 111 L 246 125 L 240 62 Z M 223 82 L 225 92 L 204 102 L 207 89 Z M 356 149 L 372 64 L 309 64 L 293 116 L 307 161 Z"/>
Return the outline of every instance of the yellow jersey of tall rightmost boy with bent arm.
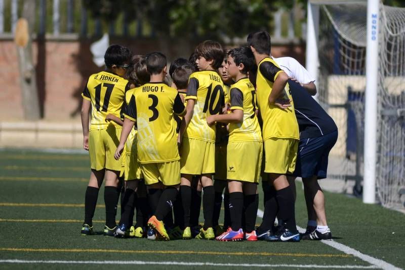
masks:
<path fill-rule="evenodd" d="M 290 87 L 285 87 L 285 98 L 291 100 L 291 107 L 282 110 L 279 107 L 269 104 L 269 96 L 274 80 L 282 70 L 271 58 L 263 59 L 258 66 L 256 86 L 257 103 L 263 119 L 263 139 L 269 138 L 291 138 L 299 139 L 298 123 L 294 112 L 294 102 L 291 97 Z"/>

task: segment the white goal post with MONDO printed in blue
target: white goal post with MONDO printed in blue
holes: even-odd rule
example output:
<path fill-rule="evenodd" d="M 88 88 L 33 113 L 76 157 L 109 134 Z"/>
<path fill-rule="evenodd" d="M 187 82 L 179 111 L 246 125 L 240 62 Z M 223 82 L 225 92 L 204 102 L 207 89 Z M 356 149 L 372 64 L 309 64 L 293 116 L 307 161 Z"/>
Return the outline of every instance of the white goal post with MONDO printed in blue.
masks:
<path fill-rule="evenodd" d="M 376 202 L 378 32 L 380 0 L 367 1 L 363 202 Z"/>

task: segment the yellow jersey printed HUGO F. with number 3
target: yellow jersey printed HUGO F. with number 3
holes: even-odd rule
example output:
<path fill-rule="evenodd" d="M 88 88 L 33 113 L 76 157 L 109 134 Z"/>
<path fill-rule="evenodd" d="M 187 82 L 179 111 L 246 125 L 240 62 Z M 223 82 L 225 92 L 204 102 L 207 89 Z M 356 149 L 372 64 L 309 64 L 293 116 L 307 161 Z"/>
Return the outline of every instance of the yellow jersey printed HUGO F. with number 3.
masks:
<path fill-rule="evenodd" d="M 184 110 L 177 90 L 163 82 L 146 83 L 134 89 L 124 116 L 137 122 L 139 163 L 180 159 L 173 115 Z"/>

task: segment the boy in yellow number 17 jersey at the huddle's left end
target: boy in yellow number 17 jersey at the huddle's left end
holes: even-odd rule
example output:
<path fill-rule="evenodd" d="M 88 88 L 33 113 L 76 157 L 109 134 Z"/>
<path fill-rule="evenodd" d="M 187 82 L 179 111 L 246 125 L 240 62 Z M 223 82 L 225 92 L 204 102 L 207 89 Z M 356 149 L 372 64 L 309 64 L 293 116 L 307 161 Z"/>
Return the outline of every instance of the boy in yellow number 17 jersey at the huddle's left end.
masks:
<path fill-rule="evenodd" d="M 85 221 L 82 235 L 93 234 L 93 215 L 96 209 L 98 191 L 105 178 L 104 202 L 106 223 L 104 235 L 113 236 L 116 228 L 115 214 L 118 201 L 118 176 L 121 160 L 114 159 L 114 149 L 122 128 L 114 122 L 106 122 L 112 114 L 120 118 L 128 80 L 123 77 L 131 61 L 131 51 L 120 45 L 111 45 L 105 52 L 106 71 L 90 76 L 82 93 L 83 148 L 89 151 L 91 174 L 85 195 Z M 92 119 L 89 131 L 89 111 Z"/>

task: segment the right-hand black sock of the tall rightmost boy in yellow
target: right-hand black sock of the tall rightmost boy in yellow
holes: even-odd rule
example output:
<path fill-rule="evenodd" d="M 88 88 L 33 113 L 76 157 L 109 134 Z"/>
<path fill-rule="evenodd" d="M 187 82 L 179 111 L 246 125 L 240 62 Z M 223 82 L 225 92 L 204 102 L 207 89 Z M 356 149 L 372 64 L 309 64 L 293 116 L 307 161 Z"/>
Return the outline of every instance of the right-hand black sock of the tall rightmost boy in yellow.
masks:
<path fill-rule="evenodd" d="M 278 202 L 279 212 L 278 217 L 286 224 L 287 228 L 292 231 L 297 231 L 295 224 L 295 205 L 294 193 L 290 186 L 277 190 L 276 198 Z"/>

